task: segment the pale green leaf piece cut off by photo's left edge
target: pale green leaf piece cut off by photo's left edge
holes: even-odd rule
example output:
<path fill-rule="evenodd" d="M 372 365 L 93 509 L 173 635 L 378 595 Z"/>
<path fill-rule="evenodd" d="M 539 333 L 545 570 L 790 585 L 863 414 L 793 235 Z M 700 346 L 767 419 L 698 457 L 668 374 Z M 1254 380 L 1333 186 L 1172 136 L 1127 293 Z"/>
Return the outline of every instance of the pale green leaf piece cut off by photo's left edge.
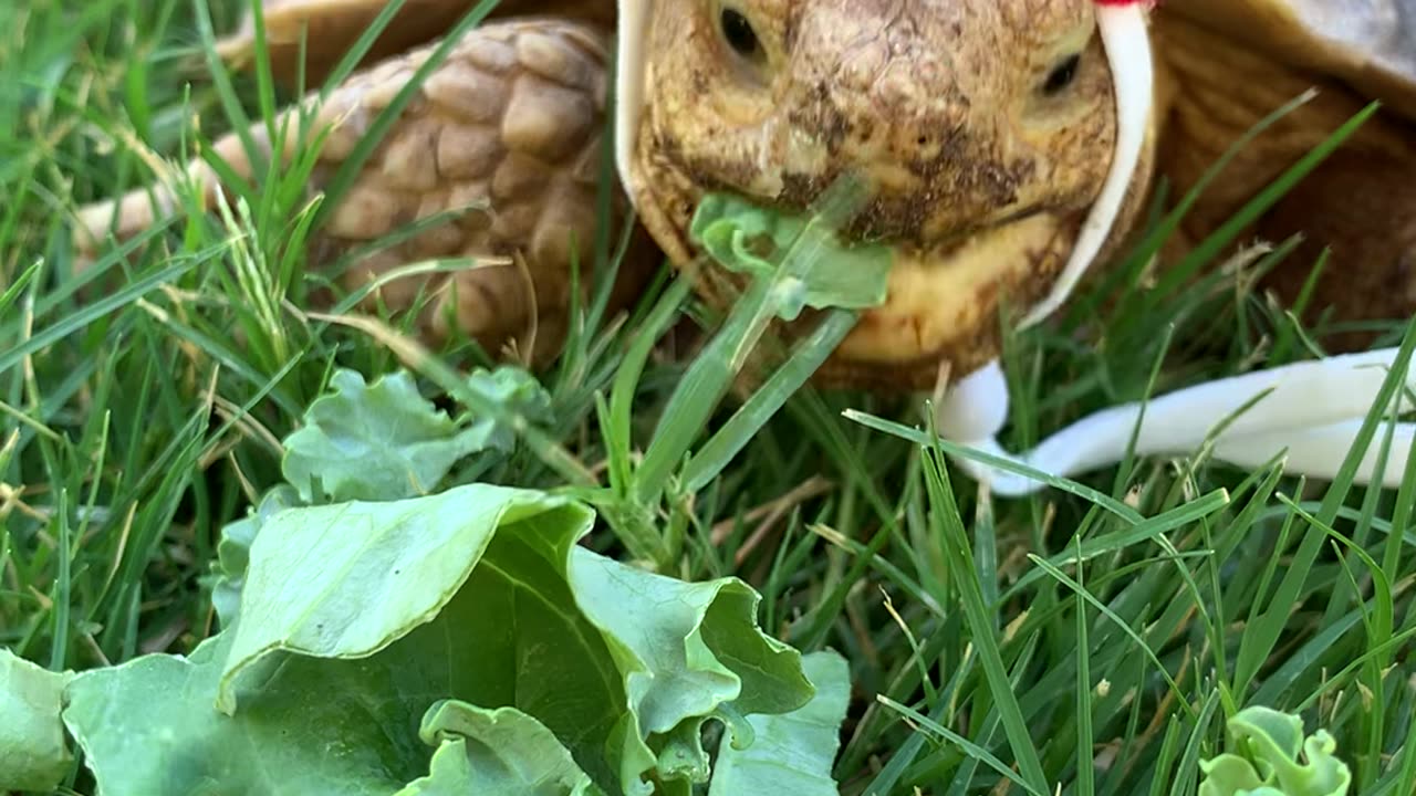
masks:
<path fill-rule="evenodd" d="M 72 676 L 0 649 L 0 792 L 52 790 L 68 773 L 59 700 Z"/>

